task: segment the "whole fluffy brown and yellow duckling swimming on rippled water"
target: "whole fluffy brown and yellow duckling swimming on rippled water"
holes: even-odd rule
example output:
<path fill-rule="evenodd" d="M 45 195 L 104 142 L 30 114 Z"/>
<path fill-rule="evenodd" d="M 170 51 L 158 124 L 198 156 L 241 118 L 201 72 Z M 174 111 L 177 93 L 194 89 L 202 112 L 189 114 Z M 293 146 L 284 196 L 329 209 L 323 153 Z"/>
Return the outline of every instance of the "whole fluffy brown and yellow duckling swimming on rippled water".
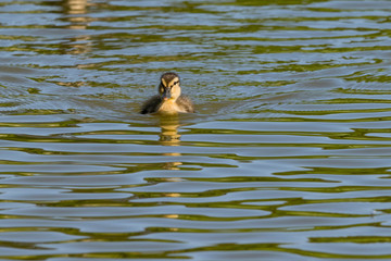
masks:
<path fill-rule="evenodd" d="M 194 112 L 190 98 L 181 95 L 179 76 L 176 73 L 164 73 L 159 85 L 159 95 L 147 100 L 141 108 L 141 114 L 178 112 Z"/>

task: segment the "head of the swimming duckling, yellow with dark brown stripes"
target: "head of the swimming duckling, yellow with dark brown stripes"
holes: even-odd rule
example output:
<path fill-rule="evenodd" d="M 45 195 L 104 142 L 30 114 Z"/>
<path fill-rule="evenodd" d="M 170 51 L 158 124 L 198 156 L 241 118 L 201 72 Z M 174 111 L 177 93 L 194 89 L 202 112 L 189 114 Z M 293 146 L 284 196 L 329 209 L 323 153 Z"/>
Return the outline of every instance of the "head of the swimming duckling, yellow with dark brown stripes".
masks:
<path fill-rule="evenodd" d="M 179 75 L 176 73 L 164 73 L 161 76 L 159 94 L 164 101 L 175 101 L 180 96 Z"/>

